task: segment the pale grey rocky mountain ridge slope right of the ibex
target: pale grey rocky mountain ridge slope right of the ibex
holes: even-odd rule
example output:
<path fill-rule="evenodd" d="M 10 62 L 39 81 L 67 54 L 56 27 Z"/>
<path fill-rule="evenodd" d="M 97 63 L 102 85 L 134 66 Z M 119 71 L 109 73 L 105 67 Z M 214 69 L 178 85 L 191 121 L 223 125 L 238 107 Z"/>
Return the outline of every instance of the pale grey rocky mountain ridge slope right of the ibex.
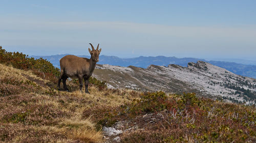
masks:
<path fill-rule="evenodd" d="M 146 69 L 134 66 L 98 65 L 93 74 L 113 88 L 169 93 L 195 92 L 200 96 L 232 102 L 255 104 L 256 79 L 243 77 L 206 62 L 155 66 Z"/>

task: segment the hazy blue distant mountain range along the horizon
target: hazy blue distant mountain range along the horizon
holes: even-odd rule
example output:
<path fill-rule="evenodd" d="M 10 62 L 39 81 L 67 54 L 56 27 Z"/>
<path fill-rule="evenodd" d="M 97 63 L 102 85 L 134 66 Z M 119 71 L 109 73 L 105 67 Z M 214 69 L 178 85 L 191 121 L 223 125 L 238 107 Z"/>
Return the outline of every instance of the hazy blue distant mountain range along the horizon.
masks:
<path fill-rule="evenodd" d="M 36 56 L 32 55 L 33 58 L 43 58 L 50 61 L 55 67 L 59 68 L 59 60 L 68 54 L 57 54 L 57 55 L 50 55 L 50 56 Z M 78 55 L 84 58 L 90 58 L 89 55 Z M 114 66 L 135 66 L 141 68 L 147 68 L 150 65 L 157 65 L 157 66 L 168 66 L 169 64 L 176 64 L 182 67 L 187 67 L 189 62 L 197 63 L 197 61 L 204 61 L 208 62 L 212 65 L 224 68 L 232 73 L 256 78 L 256 65 L 245 65 L 245 64 L 238 64 L 234 62 L 224 62 L 224 61 L 207 61 L 204 59 L 197 59 L 197 58 L 176 58 L 175 56 L 139 56 L 138 58 L 118 58 L 117 56 L 107 56 L 101 55 L 99 58 L 98 64 L 109 64 Z"/>

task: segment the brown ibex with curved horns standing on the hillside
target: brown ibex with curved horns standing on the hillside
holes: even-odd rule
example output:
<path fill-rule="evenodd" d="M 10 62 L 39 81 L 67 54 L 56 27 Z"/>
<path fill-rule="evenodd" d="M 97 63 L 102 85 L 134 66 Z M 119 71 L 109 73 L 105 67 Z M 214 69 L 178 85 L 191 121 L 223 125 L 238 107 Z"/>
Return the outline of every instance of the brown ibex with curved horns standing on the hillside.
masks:
<path fill-rule="evenodd" d="M 91 54 L 91 58 L 80 58 L 75 55 L 66 55 L 59 60 L 60 65 L 60 76 L 58 80 L 58 88 L 60 89 L 60 82 L 62 79 L 63 88 L 66 91 L 69 91 L 66 85 L 66 80 L 68 77 L 70 78 L 78 78 L 80 84 L 80 91 L 82 91 L 82 79 L 84 79 L 84 83 L 86 84 L 86 93 L 90 94 L 88 91 L 89 77 L 93 74 L 96 63 L 99 61 L 99 53 L 101 48 L 99 49 L 99 44 L 97 49 L 95 50 L 93 45 L 91 50 L 88 48 L 89 53 Z"/>

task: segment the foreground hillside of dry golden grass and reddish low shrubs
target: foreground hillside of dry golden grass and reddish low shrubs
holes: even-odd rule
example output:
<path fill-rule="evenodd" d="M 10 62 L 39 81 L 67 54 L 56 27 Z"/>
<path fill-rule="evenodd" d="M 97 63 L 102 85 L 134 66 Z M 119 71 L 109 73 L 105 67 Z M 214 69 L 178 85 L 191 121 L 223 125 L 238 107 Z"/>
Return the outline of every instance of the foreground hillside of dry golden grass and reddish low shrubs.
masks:
<path fill-rule="evenodd" d="M 114 142 L 116 136 L 104 138 L 103 126 L 124 131 L 121 142 L 256 142 L 254 106 L 193 93 L 111 90 L 95 78 L 90 95 L 78 91 L 77 80 L 68 81 L 71 92 L 57 91 L 57 74 L 46 76 L 55 70 L 51 64 L 42 74 L 36 64 L 24 69 L 4 61 L 6 54 L 0 54 L 0 142 Z"/>

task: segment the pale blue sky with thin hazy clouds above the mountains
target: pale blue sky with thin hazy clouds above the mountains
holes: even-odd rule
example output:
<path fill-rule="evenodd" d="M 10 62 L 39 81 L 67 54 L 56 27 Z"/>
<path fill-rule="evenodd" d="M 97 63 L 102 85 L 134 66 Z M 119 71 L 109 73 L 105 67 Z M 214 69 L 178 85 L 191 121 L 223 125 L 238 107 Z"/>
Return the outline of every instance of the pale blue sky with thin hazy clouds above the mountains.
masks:
<path fill-rule="evenodd" d="M 30 55 L 256 60 L 256 1 L 0 1 L 0 45 Z"/>

